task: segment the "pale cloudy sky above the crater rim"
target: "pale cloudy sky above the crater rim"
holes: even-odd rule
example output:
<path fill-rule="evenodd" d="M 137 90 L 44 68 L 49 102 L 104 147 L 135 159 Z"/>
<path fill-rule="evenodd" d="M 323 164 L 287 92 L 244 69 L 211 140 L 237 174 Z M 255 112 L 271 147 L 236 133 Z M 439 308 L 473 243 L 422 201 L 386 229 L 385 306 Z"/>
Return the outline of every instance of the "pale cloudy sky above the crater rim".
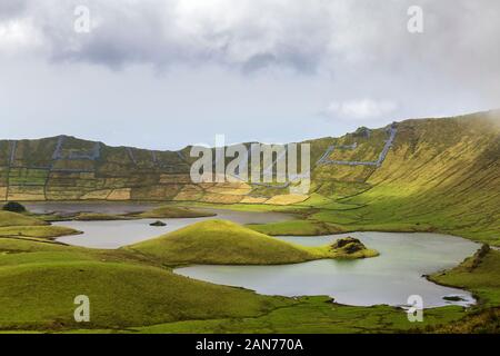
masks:
<path fill-rule="evenodd" d="M 0 138 L 177 149 L 498 108 L 499 18 L 498 0 L 1 0 Z"/>

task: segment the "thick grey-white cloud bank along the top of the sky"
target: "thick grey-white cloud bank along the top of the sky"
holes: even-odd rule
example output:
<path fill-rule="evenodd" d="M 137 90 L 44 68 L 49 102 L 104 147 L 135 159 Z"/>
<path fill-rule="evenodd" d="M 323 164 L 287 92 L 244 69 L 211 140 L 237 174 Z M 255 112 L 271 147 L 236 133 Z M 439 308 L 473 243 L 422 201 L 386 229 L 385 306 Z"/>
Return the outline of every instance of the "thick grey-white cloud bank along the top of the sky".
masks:
<path fill-rule="evenodd" d="M 51 59 L 108 67 L 217 63 L 338 75 L 346 67 L 380 72 L 429 63 L 471 78 L 480 68 L 498 70 L 498 0 L 420 2 L 420 37 L 407 31 L 412 0 L 1 0 L 0 28 L 32 18 L 30 36 L 43 39 Z M 77 6 L 99 24 L 89 36 L 73 31 Z M 30 49 L 26 37 L 8 39 Z"/>

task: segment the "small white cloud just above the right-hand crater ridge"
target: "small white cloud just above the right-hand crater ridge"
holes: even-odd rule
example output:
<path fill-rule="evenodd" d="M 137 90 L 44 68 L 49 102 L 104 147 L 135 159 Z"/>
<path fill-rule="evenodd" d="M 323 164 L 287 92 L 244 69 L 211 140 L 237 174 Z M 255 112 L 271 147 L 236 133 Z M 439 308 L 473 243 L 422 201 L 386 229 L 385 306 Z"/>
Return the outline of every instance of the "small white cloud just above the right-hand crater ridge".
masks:
<path fill-rule="evenodd" d="M 391 100 L 359 99 L 343 102 L 333 101 L 324 110 L 329 117 L 341 120 L 379 119 L 396 111 L 398 105 Z"/>

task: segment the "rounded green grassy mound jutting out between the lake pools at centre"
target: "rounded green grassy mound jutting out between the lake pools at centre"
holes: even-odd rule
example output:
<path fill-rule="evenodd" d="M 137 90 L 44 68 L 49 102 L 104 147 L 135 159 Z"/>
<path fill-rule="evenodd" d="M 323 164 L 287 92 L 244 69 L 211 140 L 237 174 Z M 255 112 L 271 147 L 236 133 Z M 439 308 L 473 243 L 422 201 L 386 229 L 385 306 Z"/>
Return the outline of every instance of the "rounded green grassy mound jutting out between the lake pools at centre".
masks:
<path fill-rule="evenodd" d="M 342 254 L 342 250 L 330 250 L 328 247 L 310 248 L 292 245 L 224 220 L 193 224 L 126 249 L 139 251 L 170 265 L 269 265 L 377 255 L 372 250 L 363 250 L 348 256 Z"/>

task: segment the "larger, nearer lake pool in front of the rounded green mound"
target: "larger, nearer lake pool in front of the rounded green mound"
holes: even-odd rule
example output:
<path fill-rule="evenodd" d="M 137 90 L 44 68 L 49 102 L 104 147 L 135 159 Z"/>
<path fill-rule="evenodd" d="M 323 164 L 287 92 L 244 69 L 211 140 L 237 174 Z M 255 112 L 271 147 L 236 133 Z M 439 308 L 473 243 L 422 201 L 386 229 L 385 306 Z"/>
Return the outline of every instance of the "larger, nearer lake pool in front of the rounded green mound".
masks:
<path fill-rule="evenodd" d="M 282 237 L 304 246 L 321 246 L 347 235 Z M 380 256 L 357 260 L 316 260 L 283 266 L 192 266 L 174 271 L 220 285 L 238 286 L 263 295 L 327 295 L 337 303 L 357 306 L 387 304 L 404 306 L 419 295 L 424 307 L 471 305 L 470 293 L 436 285 L 422 275 L 457 266 L 479 245 L 438 234 L 353 233 Z M 447 301 L 446 296 L 464 300 Z"/>

